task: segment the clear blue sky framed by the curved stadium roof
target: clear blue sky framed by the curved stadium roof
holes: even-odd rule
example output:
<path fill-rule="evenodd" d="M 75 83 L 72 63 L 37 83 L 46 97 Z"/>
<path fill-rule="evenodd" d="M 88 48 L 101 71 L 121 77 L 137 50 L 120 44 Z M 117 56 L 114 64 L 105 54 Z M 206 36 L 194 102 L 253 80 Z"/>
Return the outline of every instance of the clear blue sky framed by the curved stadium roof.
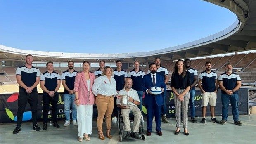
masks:
<path fill-rule="evenodd" d="M 224 30 L 237 19 L 203 0 L 0 0 L 0 44 L 22 50 L 129 53 Z"/>

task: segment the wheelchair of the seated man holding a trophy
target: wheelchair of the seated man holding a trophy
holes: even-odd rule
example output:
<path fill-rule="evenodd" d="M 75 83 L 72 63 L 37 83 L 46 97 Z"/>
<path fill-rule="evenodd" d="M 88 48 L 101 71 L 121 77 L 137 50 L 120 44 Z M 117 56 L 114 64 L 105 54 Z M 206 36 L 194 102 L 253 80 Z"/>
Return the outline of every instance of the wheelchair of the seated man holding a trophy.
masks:
<path fill-rule="evenodd" d="M 143 133 L 144 132 L 144 130 L 143 130 L 143 113 L 142 113 L 142 111 L 140 111 L 140 112 L 141 112 L 141 120 L 140 120 L 139 132 L 138 132 L 139 135 L 140 135 L 140 138 L 138 138 L 138 139 L 145 140 L 146 139 L 146 135 Z M 130 112 L 130 114 L 129 114 L 130 119 L 132 118 L 132 116 L 133 116 L 133 114 L 132 114 L 132 112 Z M 125 137 L 125 134 L 124 134 L 123 118 L 121 116 L 121 109 L 118 110 L 117 127 L 119 128 L 119 139 L 120 139 L 120 142 L 122 142 L 124 137 Z M 135 139 L 135 138 L 130 137 L 129 139 Z"/>

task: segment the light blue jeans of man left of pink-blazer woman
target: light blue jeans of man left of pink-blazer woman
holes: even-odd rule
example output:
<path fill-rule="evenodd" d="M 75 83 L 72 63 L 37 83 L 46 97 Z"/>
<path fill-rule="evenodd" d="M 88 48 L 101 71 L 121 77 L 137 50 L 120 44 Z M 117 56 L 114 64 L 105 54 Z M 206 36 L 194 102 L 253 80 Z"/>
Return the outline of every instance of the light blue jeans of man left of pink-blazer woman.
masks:
<path fill-rule="evenodd" d="M 76 113 L 76 104 L 74 103 L 75 94 L 64 94 L 64 113 L 66 117 L 66 121 L 70 120 L 70 103 L 72 104 L 72 120 L 76 120 L 77 113 Z"/>

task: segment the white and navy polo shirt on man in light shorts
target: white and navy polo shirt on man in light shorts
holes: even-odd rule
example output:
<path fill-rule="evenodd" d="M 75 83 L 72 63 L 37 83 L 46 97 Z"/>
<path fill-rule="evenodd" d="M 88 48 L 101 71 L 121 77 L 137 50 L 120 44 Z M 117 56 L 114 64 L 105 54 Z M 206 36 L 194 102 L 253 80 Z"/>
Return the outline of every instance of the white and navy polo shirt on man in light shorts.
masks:
<path fill-rule="evenodd" d="M 218 76 L 214 71 L 207 73 L 205 70 L 199 74 L 198 78 L 202 80 L 202 87 L 205 92 L 214 92 L 216 90 L 215 80 L 218 79 Z"/>

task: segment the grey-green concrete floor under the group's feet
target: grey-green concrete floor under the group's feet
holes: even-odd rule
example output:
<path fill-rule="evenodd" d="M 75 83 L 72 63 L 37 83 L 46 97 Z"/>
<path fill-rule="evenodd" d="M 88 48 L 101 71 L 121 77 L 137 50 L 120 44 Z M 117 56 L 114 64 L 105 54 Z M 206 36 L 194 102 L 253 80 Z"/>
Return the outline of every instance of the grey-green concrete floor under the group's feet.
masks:
<path fill-rule="evenodd" d="M 216 117 L 221 120 L 221 117 Z M 232 116 L 228 117 L 225 125 L 220 125 L 210 122 L 210 117 L 206 118 L 206 123 L 200 123 L 201 117 L 196 118 L 198 123 L 189 122 L 188 132 L 189 136 L 185 136 L 183 130 L 179 135 L 174 135 L 176 130 L 175 118 L 172 118 L 170 124 L 161 123 L 163 136 L 158 136 L 153 124 L 153 132 L 150 137 L 146 136 L 145 140 L 142 139 L 124 139 L 119 141 L 119 132 L 117 124 L 112 123 L 112 139 L 105 136 L 105 140 L 100 140 L 97 135 L 96 120 L 92 125 L 92 136 L 90 141 L 83 140 L 78 142 L 77 126 L 69 125 L 64 127 L 64 121 L 59 121 L 60 128 L 55 128 L 49 125 L 47 130 L 42 130 L 43 123 L 39 122 L 40 131 L 32 130 L 32 123 L 22 123 L 21 131 L 18 134 L 12 134 L 16 127 L 15 123 L 1 123 L 0 124 L 0 144 L 256 144 L 256 115 L 240 115 L 239 120 L 242 126 L 237 126 L 233 123 Z M 189 118 L 190 120 L 190 118 Z M 146 122 L 146 119 L 144 119 Z M 105 123 L 103 123 L 105 130 Z M 144 133 L 147 127 L 144 125 Z M 104 132 L 105 134 L 105 132 Z"/>

